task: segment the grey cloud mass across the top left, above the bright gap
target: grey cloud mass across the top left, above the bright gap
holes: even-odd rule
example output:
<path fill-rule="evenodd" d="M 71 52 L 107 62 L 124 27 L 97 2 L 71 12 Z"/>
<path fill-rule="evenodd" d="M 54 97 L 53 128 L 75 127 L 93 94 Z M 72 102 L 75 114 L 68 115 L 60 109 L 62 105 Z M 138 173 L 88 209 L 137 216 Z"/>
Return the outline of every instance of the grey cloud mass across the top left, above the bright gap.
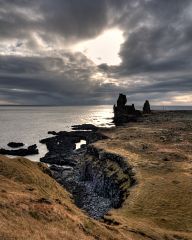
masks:
<path fill-rule="evenodd" d="M 37 31 L 44 40 L 50 35 L 77 41 L 97 36 L 124 7 L 115 0 L 0 0 L 0 37 L 27 37 Z"/>

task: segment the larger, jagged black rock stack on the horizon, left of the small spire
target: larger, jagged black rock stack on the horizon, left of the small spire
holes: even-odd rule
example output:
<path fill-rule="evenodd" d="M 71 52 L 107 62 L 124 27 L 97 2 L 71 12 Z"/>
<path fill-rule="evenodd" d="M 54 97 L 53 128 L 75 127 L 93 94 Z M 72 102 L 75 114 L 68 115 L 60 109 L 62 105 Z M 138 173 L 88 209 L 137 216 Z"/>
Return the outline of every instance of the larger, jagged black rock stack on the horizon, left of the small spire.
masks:
<path fill-rule="evenodd" d="M 126 102 L 126 96 L 120 93 L 117 100 L 117 106 L 113 106 L 114 123 L 116 125 L 122 125 L 127 122 L 136 122 L 138 117 L 141 116 L 141 112 L 135 109 L 134 104 L 125 105 Z"/>

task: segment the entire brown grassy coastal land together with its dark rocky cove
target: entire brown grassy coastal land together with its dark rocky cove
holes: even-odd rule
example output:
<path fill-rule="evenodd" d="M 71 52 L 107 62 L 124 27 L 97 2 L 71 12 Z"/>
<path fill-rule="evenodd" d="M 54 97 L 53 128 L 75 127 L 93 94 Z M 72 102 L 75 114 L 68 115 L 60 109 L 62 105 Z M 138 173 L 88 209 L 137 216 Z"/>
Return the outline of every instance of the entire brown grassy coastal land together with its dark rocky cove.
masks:
<path fill-rule="evenodd" d="M 49 132 L 42 163 L 0 156 L 0 238 L 191 240 L 192 111 L 148 107 Z"/>

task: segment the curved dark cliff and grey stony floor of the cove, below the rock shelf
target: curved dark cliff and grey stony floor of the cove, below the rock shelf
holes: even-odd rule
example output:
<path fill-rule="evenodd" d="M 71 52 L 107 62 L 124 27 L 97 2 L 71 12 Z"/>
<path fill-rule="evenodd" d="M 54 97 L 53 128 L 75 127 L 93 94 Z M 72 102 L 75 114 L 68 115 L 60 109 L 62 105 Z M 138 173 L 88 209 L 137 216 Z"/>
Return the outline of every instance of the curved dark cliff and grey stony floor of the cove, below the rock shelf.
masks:
<path fill-rule="evenodd" d="M 110 172 L 108 166 L 112 162 L 124 174 L 121 179 L 116 171 Z M 102 218 L 111 208 L 121 207 L 129 194 L 128 187 L 136 182 L 124 158 L 93 146 L 88 146 L 74 168 L 65 170 L 54 165 L 50 169 L 56 181 L 73 195 L 76 205 L 95 219 Z"/>

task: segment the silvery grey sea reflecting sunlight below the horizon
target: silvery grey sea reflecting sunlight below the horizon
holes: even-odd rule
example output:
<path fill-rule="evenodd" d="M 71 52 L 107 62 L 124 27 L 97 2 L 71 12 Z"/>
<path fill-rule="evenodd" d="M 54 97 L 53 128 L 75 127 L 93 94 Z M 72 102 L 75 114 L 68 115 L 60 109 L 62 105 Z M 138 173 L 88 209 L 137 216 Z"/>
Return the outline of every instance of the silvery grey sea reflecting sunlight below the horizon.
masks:
<path fill-rule="evenodd" d="M 192 110 L 192 107 L 153 107 L 154 110 Z M 11 141 L 37 144 L 40 154 L 27 158 L 38 161 L 47 152 L 39 140 L 50 137 L 48 131 L 70 131 L 72 125 L 91 123 L 112 126 L 113 106 L 0 106 L 0 148 Z"/>

